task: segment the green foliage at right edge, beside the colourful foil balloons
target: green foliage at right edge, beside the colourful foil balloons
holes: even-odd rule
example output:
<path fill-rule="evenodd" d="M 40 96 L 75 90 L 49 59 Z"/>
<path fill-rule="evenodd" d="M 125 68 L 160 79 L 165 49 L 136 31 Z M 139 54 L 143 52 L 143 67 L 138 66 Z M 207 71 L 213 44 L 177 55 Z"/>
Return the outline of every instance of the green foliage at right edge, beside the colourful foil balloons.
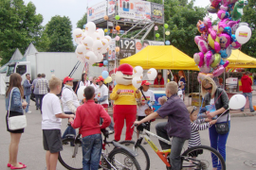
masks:
<path fill-rule="evenodd" d="M 242 51 L 248 56 L 256 58 L 256 0 L 249 0 L 248 5 L 244 7 L 242 22 L 245 22 L 251 28 L 252 34 L 250 40 L 242 45 Z"/>

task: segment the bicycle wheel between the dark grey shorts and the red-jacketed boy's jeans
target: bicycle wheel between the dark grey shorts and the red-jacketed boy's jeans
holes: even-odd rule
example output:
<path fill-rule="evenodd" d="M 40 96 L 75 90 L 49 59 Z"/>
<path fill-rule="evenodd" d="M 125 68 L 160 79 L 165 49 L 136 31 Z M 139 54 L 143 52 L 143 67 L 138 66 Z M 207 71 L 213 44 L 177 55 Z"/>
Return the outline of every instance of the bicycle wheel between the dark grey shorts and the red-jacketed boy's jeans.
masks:
<path fill-rule="evenodd" d="M 74 139 L 64 139 L 64 149 L 60 152 L 58 160 L 69 170 L 82 170 L 82 147 L 81 144 L 70 146 Z M 68 143 L 68 144 L 64 144 Z"/>

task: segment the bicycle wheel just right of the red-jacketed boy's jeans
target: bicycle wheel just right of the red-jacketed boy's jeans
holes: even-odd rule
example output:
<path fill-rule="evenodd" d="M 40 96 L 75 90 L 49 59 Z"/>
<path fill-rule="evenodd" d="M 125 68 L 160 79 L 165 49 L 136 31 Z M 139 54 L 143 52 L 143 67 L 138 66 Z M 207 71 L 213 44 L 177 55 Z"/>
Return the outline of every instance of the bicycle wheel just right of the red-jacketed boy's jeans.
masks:
<path fill-rule="evenodd" d="M 141 170 L 136 158 L 122 148 L 114 148 L 108 155 L 108 169 Z"/>

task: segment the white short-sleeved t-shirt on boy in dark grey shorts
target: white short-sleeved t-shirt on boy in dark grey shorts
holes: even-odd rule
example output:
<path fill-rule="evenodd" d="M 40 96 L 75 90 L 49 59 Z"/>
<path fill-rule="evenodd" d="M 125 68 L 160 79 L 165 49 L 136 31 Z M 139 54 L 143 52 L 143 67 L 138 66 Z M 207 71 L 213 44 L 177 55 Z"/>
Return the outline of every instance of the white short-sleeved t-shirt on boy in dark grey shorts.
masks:
<path fill-rule="evenodd" d="M 61 101 L 54 93 L 47 93 L 43 98 L 42 129 L 61 129 L 62 119 L 55 115 L 63 113 Z"/>

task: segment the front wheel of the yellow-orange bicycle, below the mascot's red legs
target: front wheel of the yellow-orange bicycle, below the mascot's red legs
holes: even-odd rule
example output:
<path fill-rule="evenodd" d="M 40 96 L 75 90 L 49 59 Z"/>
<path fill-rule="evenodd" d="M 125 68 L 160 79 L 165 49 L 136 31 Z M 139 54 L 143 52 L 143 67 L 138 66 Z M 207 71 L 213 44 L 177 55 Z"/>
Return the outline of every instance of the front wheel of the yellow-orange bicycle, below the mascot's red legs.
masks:
<path fill-rule="evenodd" d="M 149 158 L 149 154 L 146 151 L 146 149 L 142 146 L 142 145 L 138 145 L 137 148 L 135 148 L 135 143 L 134 141 L 122 141 L 119 144 L 129 144 L 126 145 L 127 147 L 129 147 L 132 150 L 135 150 L 137 152 L 137 161 L 140 163 L 140 168 L 142 170 L 149 170 L 150 169 L 150 158 Z"/>

